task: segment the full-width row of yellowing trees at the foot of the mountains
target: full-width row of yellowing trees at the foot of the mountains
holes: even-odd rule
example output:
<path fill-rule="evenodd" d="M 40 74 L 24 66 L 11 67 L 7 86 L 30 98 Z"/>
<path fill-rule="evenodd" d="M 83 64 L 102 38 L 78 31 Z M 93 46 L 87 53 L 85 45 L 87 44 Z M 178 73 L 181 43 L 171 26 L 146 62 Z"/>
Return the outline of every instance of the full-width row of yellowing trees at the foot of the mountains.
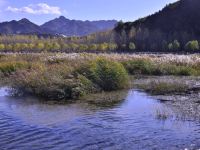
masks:
<path fill-rule="evenodd" d="M 139 32 L 139 33 L 138 33 Z M 146 42 L 146 31 L 131 29 L 95 33 L 84 37 L 42 37 L 36 35 L 1 35 L 1 52 L 82 52 L 82 51 L 198 51 L 199 41 L 181 43 L 155 40 Z M 141 34 L 143 33 L 143 34 Z M 159 38 L 159 36 L 157 37 Z M 140 40 L 139 40 L 140 39 Z M 139 42 L 138 42 L 139 41 Z"/>

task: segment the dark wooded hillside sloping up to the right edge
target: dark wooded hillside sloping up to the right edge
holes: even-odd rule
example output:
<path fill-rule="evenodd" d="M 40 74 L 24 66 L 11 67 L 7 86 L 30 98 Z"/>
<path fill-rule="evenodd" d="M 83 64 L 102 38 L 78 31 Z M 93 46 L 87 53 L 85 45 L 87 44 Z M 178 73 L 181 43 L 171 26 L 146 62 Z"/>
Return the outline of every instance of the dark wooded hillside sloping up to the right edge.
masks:
<path fill-rule="evenodd" d="M 180 0 L 135 22 L 119 22 L 114 29 L 121 49 L 143 51 L 199 50 L 200 0 Z"/>

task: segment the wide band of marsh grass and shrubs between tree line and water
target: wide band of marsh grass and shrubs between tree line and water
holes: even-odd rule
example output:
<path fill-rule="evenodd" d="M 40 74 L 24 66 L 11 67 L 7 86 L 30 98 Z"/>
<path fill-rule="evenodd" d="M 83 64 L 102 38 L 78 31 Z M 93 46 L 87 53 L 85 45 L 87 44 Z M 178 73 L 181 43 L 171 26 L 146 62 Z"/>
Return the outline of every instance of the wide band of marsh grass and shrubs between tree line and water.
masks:
<path fill-rule="evenodd" d="M 11 54 L 0 56 L 1 78 L 13 94 L 77 99 L 90 93 L 128 89 L 130 75 L 198 76 L 198 55 Z M 6 80 L 5 80 L 6 79 Z M 133 81 L 134 82 L 134 81 Z M 185 92 L 182 83 L 141 85 L 151 93 Z"/>

